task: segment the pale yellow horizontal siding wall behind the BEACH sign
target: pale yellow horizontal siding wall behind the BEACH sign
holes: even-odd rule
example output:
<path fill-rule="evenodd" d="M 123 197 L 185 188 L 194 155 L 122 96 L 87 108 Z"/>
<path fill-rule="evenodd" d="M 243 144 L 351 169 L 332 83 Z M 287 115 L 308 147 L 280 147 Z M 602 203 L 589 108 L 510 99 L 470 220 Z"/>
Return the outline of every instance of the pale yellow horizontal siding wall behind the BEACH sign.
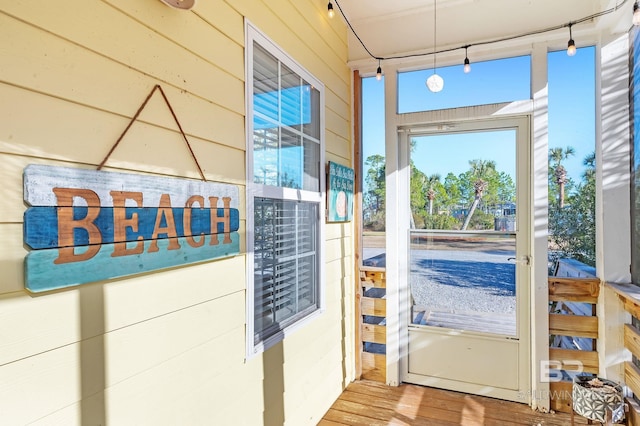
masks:
<path fill-rule="evenodd" d="M 207 179 L 240 186 L 244 238 L 245 17 L 325 83 L 326 160 L 351 165 L 346 28 L 325 12 L 322 0 L 0 3 L 0 424 L 315 424 L 353 378 L 352 224 L 326 227 L 324 314 L 249 360 L 242 254 L 23 289 L 23 168 L 95 169 L 155 84 Z M 198 178 L 158 93 L 107 169 Z"/>

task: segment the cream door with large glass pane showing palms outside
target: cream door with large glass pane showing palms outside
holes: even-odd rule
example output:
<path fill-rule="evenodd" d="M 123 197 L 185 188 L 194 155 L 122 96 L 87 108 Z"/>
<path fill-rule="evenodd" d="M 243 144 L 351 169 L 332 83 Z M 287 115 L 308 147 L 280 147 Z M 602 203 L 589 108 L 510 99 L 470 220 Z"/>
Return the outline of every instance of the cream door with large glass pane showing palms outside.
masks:
<path fill-rule="evenodd" d="M 529 402 L 528 123 L 405 129 L 403 381 Z"/>

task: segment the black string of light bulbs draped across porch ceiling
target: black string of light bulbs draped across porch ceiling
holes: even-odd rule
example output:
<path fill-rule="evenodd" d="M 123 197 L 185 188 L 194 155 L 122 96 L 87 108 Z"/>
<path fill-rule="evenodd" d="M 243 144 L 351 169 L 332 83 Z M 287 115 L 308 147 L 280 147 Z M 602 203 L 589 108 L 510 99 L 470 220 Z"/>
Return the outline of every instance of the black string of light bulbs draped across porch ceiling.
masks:
<path fill-rule="evenodd" d="M 472 46 L 486 46 L 486 45 L 490 45 L 490 44 L 502 43 L 502 42 L 505 42 L 505 41 L 516 40 L 516 39 L 523 38 L 523 37 L 531 37 L 531 36 L 540 35 L 540 34 L 552 32 L 552 31 L 557 31 L 559 29 L 566 28 L 567 26 L 569 26 L 569 35 L 571 37 L 571 26 L 576 25 L 576 24 L 581 24 L 583 22 L 593 22 L 593 20 L 595 20 L 596 18 L 599 18 L 601 16 L 608 15 L 610 13 L 616 12 L 618 9 L 620 9 L 622 6 L 624 6 L 629 0 L 623 0 L 619 4 L 616 4 L 614 7 L 611 7 L 609 9 L 605 9 L 605 10 L 602 10 L 600 12 L 596 12 L 596 13 L 593 13 L 591 15 L 582 17 L 580 19 L 577 19 L 577 20 L 574 20 L 572 22 L 569 22 L 568 24 L 560 24 L 560 25 L 556 25 L 556 26 L 553 26 L 553 27 L 548 27 L 548 28 L 542 28 L 542 29 L 539 29 L 539 30 L 529 31 L 529 32 L 526 32 L 526 33 L 516 34 L 516 35 L 512 35 L 512 36 L 506 36 L 506 37 L 502 37 L 502 38 L 495 38 L 495 39 L 490 39 L 490 40 L 485 40 L 485 41 L 479 41 L 479 42 L 468 44 L 468 45 L 465 45 L 465 46 L 452 47 L 452 48 L 442 49 L 442 50 L 436 50 L 435 49 L 435 43 L 434 43 L 434 51 L 433 52 L 411 53 L 411 54 L 407 54 L 407 55 L 393 55 L 393 56 L 384 56 L 384 57 L 376 56 L 373 53 L 371 53 L 369 48 L 366 46 L 366 44 L 364 44 L 364 42 L 362 41 L 362 39 L 360 38 L 360 36 L 356 32 L 356 30 L 351 25 L 351 22 L 349 22 L 349 20 L 347 19 L 346 15 L 342 11 L 342 8 L 340 7 L 339 1 L 338 0 L 333 0 L 333 1 L 335 1 L 336 6 L 338 6 L 338 10 L 340 10 L 340 13 L 342 14 L 342 17 L 344 18 L 347 26 L 349 27 L 349 29 L 351 30 L 353 35 L 355 36 L 356 39 L 358 39 L 358 42 L 360 43 L 362 48 L 367 52 L 367 54 L 371 58 L 376 59 L 378 61 L 380 61 L 380 60 L 386 61 L 386 60 L 390 60 L 390 59 L 409 59 L 409 58 L 419 58 L 419 57 L 423 57 L 423 56 L 434 55 L 434 72 L 435 72 L 435 55 L 437 53 L 453 52 L 453 51 L 458 50 L 458 49 L 467 49 L 467 48 L 472 47 Z M 333 12 L 333 4 L 331 3 L 331 1 L 329 1 L 329 5 L 327 6 L 327 9 L 329 10 L 330 13 Z M 435 7 L 434 7 L 434 9 L 435 9 Z M 435 14 L 435 12 L 434 12 L 434 14 Z M 635 0 L 634 5 L 633 5 L 633 24 L 634 25 L 640 25 L 640 0 Z M 569 48 L 570 45 L 573 44 L 573 47 L 575 49 L 575 42 L 573 42 L 573 43 L 572 42 L 573 42 L 573 39 L 570 39 L 569 43 L 567 44 L 567 47 Z M 567 49 L 567 53 L 569 53 L 569 49 Z M 467 65 L 466 64 L 466 62 L 467 62 L 466 59 L 468 59 L 468 58 L 465 58 L 465 69 L 466 69 L 466 65 Z M 469 69 L 470 68 L 471 68 L 471 64 L 469 64 Z M 434 75 L 437 75 L 437 74 L 434 73 Z M 440 78 L 440 76 L 438 76 L 438 78 Z"/>

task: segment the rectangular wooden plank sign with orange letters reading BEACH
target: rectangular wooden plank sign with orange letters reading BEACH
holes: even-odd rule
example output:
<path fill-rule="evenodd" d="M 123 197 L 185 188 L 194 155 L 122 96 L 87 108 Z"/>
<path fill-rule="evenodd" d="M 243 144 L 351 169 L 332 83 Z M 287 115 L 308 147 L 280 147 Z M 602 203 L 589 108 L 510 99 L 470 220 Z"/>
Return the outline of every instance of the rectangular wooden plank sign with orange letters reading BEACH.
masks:
<path fill-rule="evenodd" d="M 24 200 L 34 293 L 240 251 L 235 185 L 29 165 Z"/>

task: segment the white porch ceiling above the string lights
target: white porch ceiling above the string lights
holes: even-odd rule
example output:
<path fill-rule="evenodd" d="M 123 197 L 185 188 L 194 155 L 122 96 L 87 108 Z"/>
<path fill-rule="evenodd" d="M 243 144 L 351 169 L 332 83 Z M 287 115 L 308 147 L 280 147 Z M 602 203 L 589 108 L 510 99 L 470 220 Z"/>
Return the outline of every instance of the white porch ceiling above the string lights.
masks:
<path fill-rule="evenodd" d="M 335 1 L 335 0 L 334 0 Z M 620 16 L 631 23 L 632 0 L 435 0 L 437 50 L 473 45 L 568 24 L 609 8 L 618 12 L 576 24 L 573 35 L 593 37 L 594 31 L 620 25 Z M 432 52 L 434 48 L 434 0 L 337 0 L 371 54 L 388 58 L 407 53 Z M 337 6 L 337 17 L 340 17 Z M 616 28 L 615 31 L 626 31 Z M 556 40 L 566 47 L 569 31 L 562 28 L 535 38 L 519 39 L 529 44 L 535 40 Z M 593 42 L 593 41 L 590 41 Z M 515 42 L 512 42 L 512 44 Z M 471 47 L 472 51 L 498 48 L 499 45 Z M 464 50 L 458 55 L 464 55 Z M 375 63 L 349 32 L 349 61 Z"/>

